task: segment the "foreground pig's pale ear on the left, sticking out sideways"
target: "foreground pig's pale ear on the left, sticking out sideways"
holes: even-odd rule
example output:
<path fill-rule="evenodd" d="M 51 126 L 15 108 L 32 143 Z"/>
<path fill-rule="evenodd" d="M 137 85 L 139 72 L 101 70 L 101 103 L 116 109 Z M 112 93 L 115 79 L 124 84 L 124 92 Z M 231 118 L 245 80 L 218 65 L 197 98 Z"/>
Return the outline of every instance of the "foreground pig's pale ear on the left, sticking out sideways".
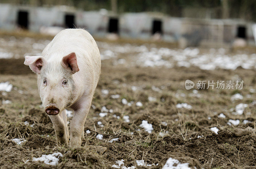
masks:
<path fill-rule="evenodd" d="M 41 73 L 41 69 L 45 63 L 46 60 L 42 56 L 25 56 L 24 64 L 28 65 L 36 74 Z"/>

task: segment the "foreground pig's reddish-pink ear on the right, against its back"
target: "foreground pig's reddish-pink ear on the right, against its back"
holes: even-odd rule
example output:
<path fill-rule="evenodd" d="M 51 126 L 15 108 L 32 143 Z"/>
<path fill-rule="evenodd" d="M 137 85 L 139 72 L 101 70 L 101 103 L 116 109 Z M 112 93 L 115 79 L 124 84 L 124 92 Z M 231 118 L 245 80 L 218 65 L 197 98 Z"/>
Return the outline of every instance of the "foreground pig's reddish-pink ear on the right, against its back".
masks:
<path fill-rule="evenodd" d="M 77 61 L 76 61 L 76 54 L 72 52 L 71 54 L 64 56 L 61 61 L 61 65 L 64 68 L 70 69 L 73 74 L 79 71 Z"/>

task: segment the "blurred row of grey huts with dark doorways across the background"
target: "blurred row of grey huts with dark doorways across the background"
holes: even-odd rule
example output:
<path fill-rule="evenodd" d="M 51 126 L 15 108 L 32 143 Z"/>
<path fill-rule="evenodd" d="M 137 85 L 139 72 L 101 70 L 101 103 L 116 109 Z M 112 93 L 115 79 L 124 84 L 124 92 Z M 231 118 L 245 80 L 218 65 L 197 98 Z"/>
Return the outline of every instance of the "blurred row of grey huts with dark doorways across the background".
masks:
<path fill-rule="evenodd" d="M 168 42 L 186 39 L 188 46 L 232 44 L 237 37 L 254 45 L 252 25 L 237 19 L 174 18 L 156 12 L 116 15 L 105 9 L 82 11 L 68 6 L 0 4 L 0 29 L 4 30 L 20 27 L 39 32 L 42 27 L 79 27 L 100 37 L 116 33 L 120 37 L 144 40 L 156 34 Z"/>

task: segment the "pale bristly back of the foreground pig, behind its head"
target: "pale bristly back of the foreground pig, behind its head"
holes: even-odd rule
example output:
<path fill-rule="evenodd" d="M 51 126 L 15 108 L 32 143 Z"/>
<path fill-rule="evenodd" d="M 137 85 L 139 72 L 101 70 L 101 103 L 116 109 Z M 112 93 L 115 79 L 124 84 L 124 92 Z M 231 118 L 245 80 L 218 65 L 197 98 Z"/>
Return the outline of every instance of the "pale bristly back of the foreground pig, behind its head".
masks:
<path fill-rule="evenodd" d="M 92 35 L 84 29 L 65 29 L 58 33 L 44 48 L 42 56 L 46 60 L 59 60 L 72 52 L 76 53 L 79 71 L 77 79 L 88 79 L 93 74 L 93 91 L 100 76 L 100 52 Z M 78 82 L 78 83 L 82 83 Z"/>

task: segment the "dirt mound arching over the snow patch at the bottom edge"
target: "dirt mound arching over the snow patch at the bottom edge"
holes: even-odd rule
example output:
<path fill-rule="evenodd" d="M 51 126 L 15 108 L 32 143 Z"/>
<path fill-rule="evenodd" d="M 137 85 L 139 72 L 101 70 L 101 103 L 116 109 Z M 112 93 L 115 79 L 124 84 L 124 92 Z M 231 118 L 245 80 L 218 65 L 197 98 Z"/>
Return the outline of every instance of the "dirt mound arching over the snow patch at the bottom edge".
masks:
<path fill-rule="evenodd" d="M 202 165 L 200 165 L 199 161 L 197 161 L 196 159 L 187 157 L 182 153 L 176 153 L 176 152 L 168 153 L 164 158 L 162 158 L 162 160 L 158 163 L 156 167 L 152 167 L 152 168 L 163 168 L 168 158 L 177 159 L 179 160 L 180 163 L 188 163 L 189 164 L 188 166 L 190 168 L 194 168 L 194 167 L 203 168 Z"/>

